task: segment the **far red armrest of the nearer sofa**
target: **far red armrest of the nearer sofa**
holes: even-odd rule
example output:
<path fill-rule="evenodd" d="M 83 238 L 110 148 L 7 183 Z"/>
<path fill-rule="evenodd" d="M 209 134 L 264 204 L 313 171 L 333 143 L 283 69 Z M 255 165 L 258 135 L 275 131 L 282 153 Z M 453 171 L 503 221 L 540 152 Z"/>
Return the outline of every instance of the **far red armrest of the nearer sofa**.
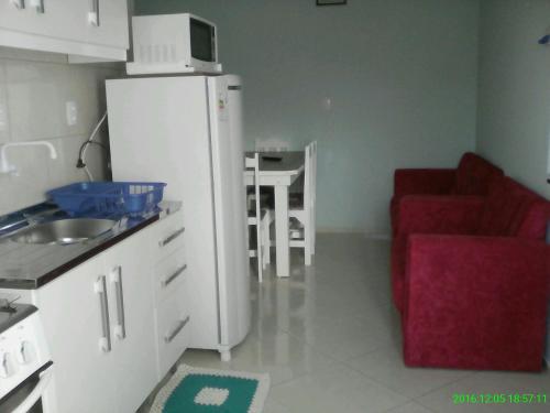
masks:
<path fill-rule="evenodd" d="M 396 236 L 474 233 L 484 206 L 481 196 L 404 196 L 397 205 Z"/>

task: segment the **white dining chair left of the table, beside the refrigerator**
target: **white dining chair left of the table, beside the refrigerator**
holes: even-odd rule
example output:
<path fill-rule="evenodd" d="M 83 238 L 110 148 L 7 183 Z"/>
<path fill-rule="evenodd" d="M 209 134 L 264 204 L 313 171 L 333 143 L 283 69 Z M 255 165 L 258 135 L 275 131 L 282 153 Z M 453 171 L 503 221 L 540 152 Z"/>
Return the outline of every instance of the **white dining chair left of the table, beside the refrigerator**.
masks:
<path fill-rule="evenodd" d="M 248 224 L 250 227 L 255 227 L 256 230 L 256 248 L 251 248 L 249 239 L 249 257 L 257 259 L 257 278 L 263 281 L 263 270 L 270 263 L 270 227 L 274 221 L 273 210 L 261 207 L 260 196 L 260 157 L 257 152 L 253 157 L 245 157 L 245 167 L 254 169 L 254 197 L 251 208 L 249 208 Z M 248 203 L 249 205 L 249 203 Z"/>

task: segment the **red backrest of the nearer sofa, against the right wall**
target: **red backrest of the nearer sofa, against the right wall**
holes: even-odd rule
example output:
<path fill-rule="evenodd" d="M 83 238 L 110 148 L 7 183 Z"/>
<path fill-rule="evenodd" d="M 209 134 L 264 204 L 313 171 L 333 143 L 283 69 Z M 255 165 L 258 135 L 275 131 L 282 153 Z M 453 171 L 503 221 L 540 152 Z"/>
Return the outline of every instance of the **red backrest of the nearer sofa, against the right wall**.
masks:
<path fill-rule="evenodd" d="M 550 203 L 506 176 L 491 185 L 477 233 L 543 239 L 549 219 Z"/>

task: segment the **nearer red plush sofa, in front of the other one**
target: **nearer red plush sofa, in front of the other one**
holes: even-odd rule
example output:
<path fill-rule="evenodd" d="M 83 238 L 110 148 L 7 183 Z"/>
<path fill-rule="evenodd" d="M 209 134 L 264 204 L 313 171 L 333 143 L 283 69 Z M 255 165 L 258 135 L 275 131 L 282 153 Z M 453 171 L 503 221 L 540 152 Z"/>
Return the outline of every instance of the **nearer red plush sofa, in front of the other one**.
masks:
<path fill-rule="evenodd" d="M 486 197 L 406 196 L 392 243 L 408 366 L 540 370 L 550 203 L 501 177 Z"/>

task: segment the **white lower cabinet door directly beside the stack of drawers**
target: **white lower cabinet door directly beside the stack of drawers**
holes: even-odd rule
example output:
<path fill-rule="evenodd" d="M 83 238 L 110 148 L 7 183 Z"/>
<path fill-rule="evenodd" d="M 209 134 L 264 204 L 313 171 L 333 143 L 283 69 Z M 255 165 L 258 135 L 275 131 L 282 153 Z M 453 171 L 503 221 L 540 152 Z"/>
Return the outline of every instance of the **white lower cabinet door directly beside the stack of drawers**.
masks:
<path fill-rule="evenodd" d="M 150 230 L 143 229 L 105 254 L 121 413 L 135 412 L 156 385 Z"/>

